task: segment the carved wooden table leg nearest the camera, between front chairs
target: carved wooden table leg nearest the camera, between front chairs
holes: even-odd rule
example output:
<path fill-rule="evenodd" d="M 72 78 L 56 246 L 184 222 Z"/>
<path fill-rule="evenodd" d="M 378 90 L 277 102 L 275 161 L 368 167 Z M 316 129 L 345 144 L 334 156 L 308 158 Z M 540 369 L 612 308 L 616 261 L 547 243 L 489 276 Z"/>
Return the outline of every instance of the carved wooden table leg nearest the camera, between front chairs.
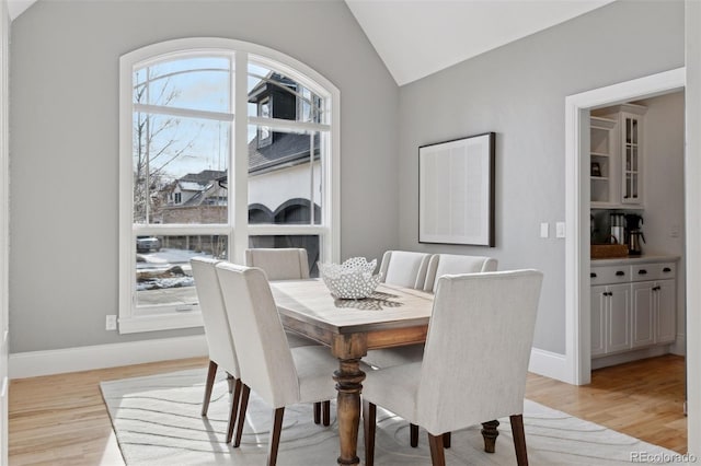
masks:
<path fill-rule="evenodd" d="M 337 420 L 341 443 L 340 465 L 357 465 L 358 428 L 360 426 L 360 392 L 365 372 L 360 370 L 360 357 L 367 352 L 365 335 L 338 336 L 332 347 L 338 358 L 338 370 L 334 372 L 338 392 Z"/>

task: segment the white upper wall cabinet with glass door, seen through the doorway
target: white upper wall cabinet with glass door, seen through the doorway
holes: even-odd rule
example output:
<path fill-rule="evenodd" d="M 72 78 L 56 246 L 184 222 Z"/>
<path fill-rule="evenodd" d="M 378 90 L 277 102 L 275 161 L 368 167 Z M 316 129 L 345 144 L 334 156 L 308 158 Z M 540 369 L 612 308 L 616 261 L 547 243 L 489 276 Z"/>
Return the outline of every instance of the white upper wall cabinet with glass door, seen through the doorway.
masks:
<path fill-rule="evenodd" d="M 623 104 L 589 119 L 590 200 L 594 208 L 643 207 L 643 139 L 647 107 Z"/>

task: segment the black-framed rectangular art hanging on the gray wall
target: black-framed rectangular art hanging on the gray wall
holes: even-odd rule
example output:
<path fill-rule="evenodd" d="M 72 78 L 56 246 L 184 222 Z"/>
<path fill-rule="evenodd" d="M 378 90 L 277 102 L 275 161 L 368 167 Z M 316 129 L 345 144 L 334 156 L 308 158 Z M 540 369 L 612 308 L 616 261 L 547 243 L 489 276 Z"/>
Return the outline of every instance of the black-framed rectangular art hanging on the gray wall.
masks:
<path fill-rule="evenodd" d="M 494 132 L 418 148 L 418 242 L 494 247 Z"/>

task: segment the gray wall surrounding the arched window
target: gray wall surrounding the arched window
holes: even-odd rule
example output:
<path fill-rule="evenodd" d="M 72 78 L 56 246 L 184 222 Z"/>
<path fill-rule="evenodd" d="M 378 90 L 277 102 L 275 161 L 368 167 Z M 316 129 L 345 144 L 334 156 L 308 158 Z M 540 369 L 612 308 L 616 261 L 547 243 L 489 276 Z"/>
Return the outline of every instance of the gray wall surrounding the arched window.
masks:
<path fill-rule="evenodd" d="M 285 53 L 341 90 L 342 256 L 398 242 L 399 90 L 341 0 L 38 1 L 12 24 L 11 351 L 192 335 L 119 336 L 118 59 L 181 37 Z"/>

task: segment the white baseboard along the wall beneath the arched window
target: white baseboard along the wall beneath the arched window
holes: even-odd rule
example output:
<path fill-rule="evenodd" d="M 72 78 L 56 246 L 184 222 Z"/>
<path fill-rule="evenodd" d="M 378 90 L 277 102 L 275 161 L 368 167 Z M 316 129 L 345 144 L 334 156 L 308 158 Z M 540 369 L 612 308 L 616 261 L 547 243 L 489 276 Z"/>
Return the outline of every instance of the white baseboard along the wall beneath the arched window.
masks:
<path fill-rule="evenodd" d="M 204 335 L 10 354 L 10 378 L 207 356 Z"/>

